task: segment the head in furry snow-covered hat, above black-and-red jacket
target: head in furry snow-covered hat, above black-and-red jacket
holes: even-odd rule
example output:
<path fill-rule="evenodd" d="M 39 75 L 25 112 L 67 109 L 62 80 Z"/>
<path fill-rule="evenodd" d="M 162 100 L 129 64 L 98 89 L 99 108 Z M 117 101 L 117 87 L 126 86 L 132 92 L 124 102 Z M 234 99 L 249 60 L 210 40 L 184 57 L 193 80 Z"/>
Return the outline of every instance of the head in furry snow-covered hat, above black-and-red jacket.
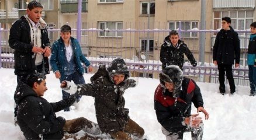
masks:
<path fill-rule="evenodd" d="M 178 92 L 181 89 L 183 80 L 183 72 L 177 65 L 169 65 L 162 70 L 162 74 L 159 75 L 160 83 L 173 93 L 173 97 L 178 96 Z"/>

